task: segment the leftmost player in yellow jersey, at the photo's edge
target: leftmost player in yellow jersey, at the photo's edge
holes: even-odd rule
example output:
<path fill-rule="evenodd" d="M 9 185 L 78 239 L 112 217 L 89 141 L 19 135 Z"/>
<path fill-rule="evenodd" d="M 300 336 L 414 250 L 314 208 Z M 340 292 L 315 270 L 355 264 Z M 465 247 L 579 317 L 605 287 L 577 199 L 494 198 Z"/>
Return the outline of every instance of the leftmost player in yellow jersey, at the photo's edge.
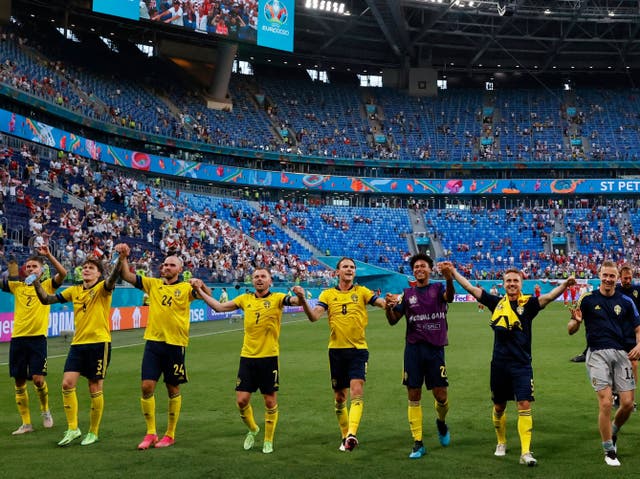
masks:
<path fill-rule="evenodd" d="M 27 259 L 24 270 L 27 276 L 34 274 L 42 277 L 45 258 L 51 261 L 56 274 L 52 279 L 43 281 L 42 287 L 48 294 L 53 294 L 62 285 L 67 270 L 51 254 L 47 246 L 41 246 L 38 248 L 38 255 Z M 33 431 L 27 380 L 33 381 L 33 386 L 38 393 L 43 426 L 51 428 L 53 417 L 49 411 L 49 387 L 45 380 L 50 307 L 38 301 L 33 285 L 27 285 L 22 281 L 4 280 L 1 287 L 2 291 L 13 294 L 15 298 L 13 332 L 9 344 L 9 373 L 15 380 L 16 405 L 22 424 L 12 434 L 19 435 Z"/>

